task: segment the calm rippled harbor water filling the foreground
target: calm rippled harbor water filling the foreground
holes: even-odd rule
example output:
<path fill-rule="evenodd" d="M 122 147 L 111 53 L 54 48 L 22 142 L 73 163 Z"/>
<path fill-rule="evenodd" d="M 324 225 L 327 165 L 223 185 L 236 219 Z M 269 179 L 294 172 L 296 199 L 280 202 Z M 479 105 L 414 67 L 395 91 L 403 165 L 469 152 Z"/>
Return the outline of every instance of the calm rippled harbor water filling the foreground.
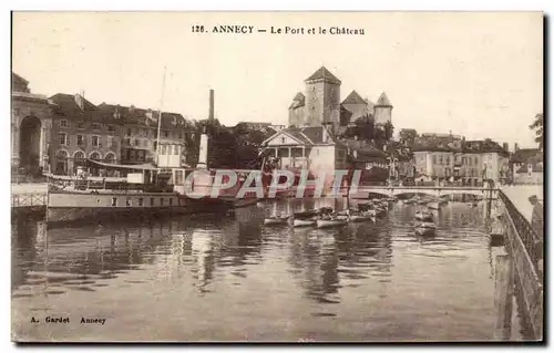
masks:
<path fill-rule="evenodd" d="M 401 204 L 376 221 L 337 229 L 263 225 L 265 215 L 314 203 L 270 201 L 226 218 L 48 231 L 42 220 L 20 220 L 12 227 L 12 335 L 22 341 L 492 340 L 494 258 L 504 249 L 490 245 L 483 205 L 443 206 L 435 211 L 434 238 L 413 233 L 417 206 Z M 70 322 L 45 323 L 47 316 Z M 83 318 L 105 322 L 81 323 Z M 524 338 L 521 321 L 516 305 L 512 340 Z"/>

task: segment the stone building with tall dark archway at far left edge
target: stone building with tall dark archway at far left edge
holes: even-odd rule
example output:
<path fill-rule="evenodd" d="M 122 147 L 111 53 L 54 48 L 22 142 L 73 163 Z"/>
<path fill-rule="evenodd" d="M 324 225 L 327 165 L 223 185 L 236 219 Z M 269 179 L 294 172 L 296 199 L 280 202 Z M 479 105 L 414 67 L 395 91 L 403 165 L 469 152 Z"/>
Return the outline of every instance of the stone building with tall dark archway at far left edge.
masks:
<path fill-rule="evenodd" d="M 11 167 L 13 174 L 40 174 L 50 164 L 51 102 L 31 93 L 29 82 L 11 73 Z"/>

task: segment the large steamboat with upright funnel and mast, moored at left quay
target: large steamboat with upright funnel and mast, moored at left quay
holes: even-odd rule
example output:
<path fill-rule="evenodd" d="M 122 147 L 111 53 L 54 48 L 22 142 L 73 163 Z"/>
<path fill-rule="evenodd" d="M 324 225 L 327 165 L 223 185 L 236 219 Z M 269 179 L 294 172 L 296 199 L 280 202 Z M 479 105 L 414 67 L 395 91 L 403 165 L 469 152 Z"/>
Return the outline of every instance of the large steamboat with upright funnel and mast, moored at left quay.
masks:
<path fill-rule="evenodd" d="M 213 91 L 209 93 L 209 116 L 213 117 Z M 171 154 L 171 148 L 167 150 Z M 238 183 L 228 188 L 216 187 L 217 169 L 208 168 L 207 152 L 208 136 L 204 133 L 201 135 L 196 168 L 181 167 L 182 164 L 176 163 L 172 155 L 156 150 L 156 165 L 116 165 L 86 159 L 75 176 L 48 175 L 47 224 L 54 227 L 116 217 L 142 219 L 206 212 L 233 215 L 237 207 L 256 204 L 259 198 L 255 193 L 237 196 L 247 175 L 260 170 L 233 170 L 239 176 Z M 86 170 L 91 169 L 109 170 L 104 175 L 115 174 L 117 177 L 89 176 Z"/>

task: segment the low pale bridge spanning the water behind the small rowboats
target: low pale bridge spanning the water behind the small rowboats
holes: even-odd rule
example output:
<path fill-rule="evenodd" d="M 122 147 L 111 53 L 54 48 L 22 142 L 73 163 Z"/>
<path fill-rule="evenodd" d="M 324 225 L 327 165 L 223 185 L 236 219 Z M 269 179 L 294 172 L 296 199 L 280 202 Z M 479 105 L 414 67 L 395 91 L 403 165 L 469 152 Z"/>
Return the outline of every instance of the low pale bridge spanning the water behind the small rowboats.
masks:
<path fill-rule="evenodd" d="M 370 194 L 379 194 L 388 197 L 402 194 L 425 194 L 434 197 L 445 195 L 474 195 L 485 199 L 495 199 L 499 189 L 471 186 L 359 186 L 358 189 L 352 188 L 350 190 L 350 196 L 352 198 L 368 198 Z"/>

